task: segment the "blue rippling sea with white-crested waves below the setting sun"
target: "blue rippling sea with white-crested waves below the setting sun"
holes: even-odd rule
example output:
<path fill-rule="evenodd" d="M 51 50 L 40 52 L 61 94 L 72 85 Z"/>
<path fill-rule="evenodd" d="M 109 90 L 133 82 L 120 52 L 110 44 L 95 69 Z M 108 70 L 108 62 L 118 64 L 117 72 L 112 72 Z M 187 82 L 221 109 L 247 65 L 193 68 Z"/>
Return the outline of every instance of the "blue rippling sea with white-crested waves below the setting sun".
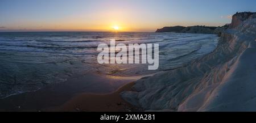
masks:
<path fill-rule="evenodd" d="M 147 64 L 100 64 L 97 46 L 159 44 L 159 68 Z M 155 32 L 0 32 L 0 98 L 94 73 L 115 77 L 151 75 L 182 67 L 210 53 L 219 38 L 212 34 Z"/>

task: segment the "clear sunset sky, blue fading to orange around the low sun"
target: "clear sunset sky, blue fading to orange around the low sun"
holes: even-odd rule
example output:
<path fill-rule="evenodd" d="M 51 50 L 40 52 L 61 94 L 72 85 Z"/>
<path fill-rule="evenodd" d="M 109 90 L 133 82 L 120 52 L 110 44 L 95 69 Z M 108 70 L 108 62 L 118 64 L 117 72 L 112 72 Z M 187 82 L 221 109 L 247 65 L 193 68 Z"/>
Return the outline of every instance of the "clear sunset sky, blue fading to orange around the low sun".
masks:
<path fill-rule="evenodd" d="M 0 31 L 155 31 L 222 26 L 255 0 L 1 0 Z"/>

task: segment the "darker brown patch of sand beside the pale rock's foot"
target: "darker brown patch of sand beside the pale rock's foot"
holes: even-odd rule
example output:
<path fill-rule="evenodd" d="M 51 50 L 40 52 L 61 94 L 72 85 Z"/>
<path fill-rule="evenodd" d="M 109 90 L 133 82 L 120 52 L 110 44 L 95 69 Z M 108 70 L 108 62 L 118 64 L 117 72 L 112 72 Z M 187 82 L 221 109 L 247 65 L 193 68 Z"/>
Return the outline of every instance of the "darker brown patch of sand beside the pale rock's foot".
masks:
<path fill-rule="evenodd" d="M 110 94 L 79 94 L 60 107 L 48 111 L 139 111 L 139 108 L 127 103 L 119 95 L 122 91 L 133 91 L 134 82 L 128 83 Z"/>

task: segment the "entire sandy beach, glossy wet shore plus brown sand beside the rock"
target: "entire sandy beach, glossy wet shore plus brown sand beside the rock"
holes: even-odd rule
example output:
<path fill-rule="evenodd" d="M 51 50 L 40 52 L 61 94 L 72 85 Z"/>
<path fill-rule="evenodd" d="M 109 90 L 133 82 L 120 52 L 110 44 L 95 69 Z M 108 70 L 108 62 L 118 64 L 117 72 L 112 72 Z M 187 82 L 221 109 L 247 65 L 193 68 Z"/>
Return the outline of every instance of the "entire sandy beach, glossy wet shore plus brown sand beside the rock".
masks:
<path fill-rule="evenodd" d="M 130 82 L 139 78 L 77 75 L 35 92 L 0 99 L 0 111 L 125 111 L 130 105 L 121 99 L 119 92 L 130 90 Z"/>

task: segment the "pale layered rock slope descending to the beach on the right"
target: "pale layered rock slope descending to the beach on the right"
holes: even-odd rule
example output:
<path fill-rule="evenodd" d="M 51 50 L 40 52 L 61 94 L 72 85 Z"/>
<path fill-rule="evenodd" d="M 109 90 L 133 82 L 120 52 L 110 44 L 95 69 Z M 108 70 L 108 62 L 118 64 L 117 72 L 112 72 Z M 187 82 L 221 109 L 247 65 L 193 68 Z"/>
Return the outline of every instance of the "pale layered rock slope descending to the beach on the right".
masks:
<path fill-rule="evenodd" d="M 138 80 L 123 99 L 144 110 L 256 111 L 256 14 L 243 14 L 212 53 Z"/>

